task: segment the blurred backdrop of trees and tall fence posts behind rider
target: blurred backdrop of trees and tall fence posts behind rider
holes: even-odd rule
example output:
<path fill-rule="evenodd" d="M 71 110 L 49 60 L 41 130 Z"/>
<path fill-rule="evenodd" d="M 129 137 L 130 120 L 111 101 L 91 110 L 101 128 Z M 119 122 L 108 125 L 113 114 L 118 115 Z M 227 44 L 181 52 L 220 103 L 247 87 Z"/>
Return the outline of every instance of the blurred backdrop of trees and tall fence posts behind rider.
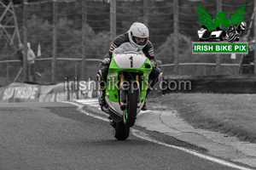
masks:
<path fill-rule="evenodd" d="M 247 28 L 240 41 L 249 42 L 250 53 L 192 54 L 201 28 L 197 4 L 212 19 L 217 11 L 230 18 L 245 4 Z M 136 21 L 148 26 L 165 77 L 254 77 L 255 6 L 252 0 L 0 0 L 0 86 L 32 82 L 30 69 L 39 73 L 34 82 L 40 84 L 95 80 L 114 37 Z M 26 42 L 36 55 L 33 68 L 17 56 Z"/>

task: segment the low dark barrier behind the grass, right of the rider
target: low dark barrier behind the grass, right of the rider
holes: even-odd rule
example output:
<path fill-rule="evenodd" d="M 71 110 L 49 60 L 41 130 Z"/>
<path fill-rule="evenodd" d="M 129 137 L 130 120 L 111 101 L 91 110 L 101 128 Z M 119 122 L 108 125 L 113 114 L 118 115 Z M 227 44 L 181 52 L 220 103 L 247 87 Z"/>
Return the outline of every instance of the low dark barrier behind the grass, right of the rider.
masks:
<path fill-rule="evenodd" d="M 211 77 L 211 78 L 168 78 L 162 87 L 162 94 L 213 93 L 213 94 L 256 94 L 256 77 Z M 168 82 L 168 83 L 167 83 Z M 186 87 L 172 88 L 172 82 L 183 82 Z M 169 86 L 167 88 L 166 86 Z M 190 86 L 190 88 L 189 88 Z"/>

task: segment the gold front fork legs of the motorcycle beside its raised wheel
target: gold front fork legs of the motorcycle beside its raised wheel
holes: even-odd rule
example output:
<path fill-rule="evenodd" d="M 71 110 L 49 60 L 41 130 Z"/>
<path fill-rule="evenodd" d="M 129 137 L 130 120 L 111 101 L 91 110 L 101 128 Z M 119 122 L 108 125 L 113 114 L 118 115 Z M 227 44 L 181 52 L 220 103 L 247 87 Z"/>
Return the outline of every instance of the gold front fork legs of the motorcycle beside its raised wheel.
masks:
<path fill-rule="evenodd" d="M 137 89 L 140 88 L 140 83 L 139 83 L 139 77 L 138 75 L 136 75 L 136 83 L 137 83 Z M 120 89 L 120 108 L 122 111 L 125 111 L 125 107 L 126 107 L 126 99 L 127 99 L 127 94 L 129 93 L 129 89 L 130 89 L 130 84 L 129 83 L 124 83 L 124 75 L 121 74 L 120 75 L 120 83 L 119 83 L 119 89 Z M 133 87 L 133 86 L 132 86 Z M 139 95 L 137 96 L 137 103 L 140 102 L 140 90 L 139 90 Z"/>

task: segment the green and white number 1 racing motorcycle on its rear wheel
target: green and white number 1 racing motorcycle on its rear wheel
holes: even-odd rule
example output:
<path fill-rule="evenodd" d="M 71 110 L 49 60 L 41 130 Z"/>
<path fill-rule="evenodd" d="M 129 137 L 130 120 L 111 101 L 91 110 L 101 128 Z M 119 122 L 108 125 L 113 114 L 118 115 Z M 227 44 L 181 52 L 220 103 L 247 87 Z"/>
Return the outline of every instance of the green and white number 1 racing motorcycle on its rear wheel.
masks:
<path fill-rule="evenodd" d="M 132 51 L 130 43 L 122 44 L 113 51 L 108 70 L 107 105 L 102 107 L 102 111 L 109 113 L 116 139 L 129 137 L 130 127 L 146 99 L 151 70 L 149 59 L 142 52 Z"/>

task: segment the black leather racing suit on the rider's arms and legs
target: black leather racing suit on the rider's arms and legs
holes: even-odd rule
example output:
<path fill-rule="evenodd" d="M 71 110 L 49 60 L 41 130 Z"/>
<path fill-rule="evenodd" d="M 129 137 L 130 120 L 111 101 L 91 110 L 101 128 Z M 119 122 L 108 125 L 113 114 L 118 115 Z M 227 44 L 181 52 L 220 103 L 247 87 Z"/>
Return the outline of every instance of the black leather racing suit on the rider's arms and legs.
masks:
<path fill-rule="evenodd" d="M 104 59 L 109 58 L 112 59 L 112 53 L 115 48 L 118 48 L 122 43 L 124 42 L 130 42 L 128 32 L 125 32 L 118 37 L 116 37 L 113 40 L 113 43 L 111 44 L 109 48 L 109 53 L 105 55 Z M 154 59 L 154 48 L 151 42 L 148 41 L 147 45 L 143 48 L 143 53 L 148 57 L 149 60 L 154 60 L 155 67 L 152 68 L 152 71 L 149 74 L 149 85 L 153 88 L 156 79 L 160 75 L 160 68 L 156 66 L 156 61 Z M 100 65 L 100 71 L 102 72 L 102 79 L 104 82 L 107 82 L 107 76 L 108 76 L 108 68 L 109 64 L 101 64 Z M 105 87 L 102 87 L 105 88 Z"/>

